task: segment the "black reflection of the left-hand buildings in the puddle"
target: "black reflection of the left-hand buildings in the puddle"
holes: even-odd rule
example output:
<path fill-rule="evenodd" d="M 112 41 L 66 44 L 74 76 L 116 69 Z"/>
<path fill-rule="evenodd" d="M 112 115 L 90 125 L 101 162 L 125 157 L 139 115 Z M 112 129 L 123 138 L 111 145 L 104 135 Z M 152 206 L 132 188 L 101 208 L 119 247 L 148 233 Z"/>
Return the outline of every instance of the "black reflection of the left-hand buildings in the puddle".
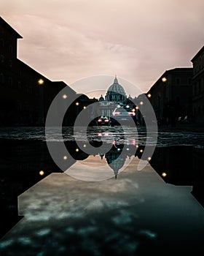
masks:
<path fill-rule="evenodd" d="M 1 140 L 0 236 L 22 219 L 18 215 L 18 196 L 52 172 L 62 173 L 44 141 Z"/>

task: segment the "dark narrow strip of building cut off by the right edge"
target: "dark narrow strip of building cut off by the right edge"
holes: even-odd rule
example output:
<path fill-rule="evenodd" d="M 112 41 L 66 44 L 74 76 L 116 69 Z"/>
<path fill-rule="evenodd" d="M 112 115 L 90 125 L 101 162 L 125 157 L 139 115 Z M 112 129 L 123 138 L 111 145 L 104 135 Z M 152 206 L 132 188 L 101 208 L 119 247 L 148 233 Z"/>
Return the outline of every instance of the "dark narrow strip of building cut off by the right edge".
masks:
<path fill-rule="evenodd" d="M 195 122 L 204 123 L 204 46 L 192 59 L 192 110 Z"/>

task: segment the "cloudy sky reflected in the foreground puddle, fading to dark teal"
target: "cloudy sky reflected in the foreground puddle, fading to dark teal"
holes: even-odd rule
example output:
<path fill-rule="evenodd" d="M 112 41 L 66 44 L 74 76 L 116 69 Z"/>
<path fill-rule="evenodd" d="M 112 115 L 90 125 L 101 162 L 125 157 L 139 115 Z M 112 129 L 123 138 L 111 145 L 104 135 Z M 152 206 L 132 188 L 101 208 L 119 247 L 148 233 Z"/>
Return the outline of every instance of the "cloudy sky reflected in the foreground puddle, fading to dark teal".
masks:
<path fill-rule="evenodd" d="M 113 159 L 119 159 L 116 149 Z M 24 218 L 1 239 L 2 255 L 162 255 L 164 249 L 196 255 L 203 246 L 203 208 L 190 195 L 192 187 L 165 184 L 151 165 L 138 171 L 141 149 L 124 151 L 133 161 L 117 180 L 85 182 L 51 173 L 26 190 L 18 197 Z M 106 168 L 109 154 L 78 153 L 70 170 L 82 162 L 84 171 L 103 166 L 114 173 Z"/>

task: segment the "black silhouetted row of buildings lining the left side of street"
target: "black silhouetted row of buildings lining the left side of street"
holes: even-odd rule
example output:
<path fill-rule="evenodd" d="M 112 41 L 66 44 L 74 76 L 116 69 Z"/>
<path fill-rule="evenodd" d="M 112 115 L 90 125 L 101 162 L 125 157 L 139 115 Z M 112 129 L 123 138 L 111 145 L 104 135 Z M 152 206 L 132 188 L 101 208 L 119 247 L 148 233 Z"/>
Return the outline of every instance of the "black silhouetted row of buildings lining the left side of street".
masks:
<path fill-rule="evenodd" d="M 17 39 L 22 38 L 4 19 L 0 18 L 1 126 L 44 125 L 52 100 L 67 86 L 63 81 L 49 80 L 17 59 Z M 69 86 L 67 88 L 71 99 L 77 98 L 76 91 Z M 90 102 L 87 99 L 86 105 L 88 104 Z M 68 109 L 66 125 L 74 123 L 76 111 L 76 105 Z"/>

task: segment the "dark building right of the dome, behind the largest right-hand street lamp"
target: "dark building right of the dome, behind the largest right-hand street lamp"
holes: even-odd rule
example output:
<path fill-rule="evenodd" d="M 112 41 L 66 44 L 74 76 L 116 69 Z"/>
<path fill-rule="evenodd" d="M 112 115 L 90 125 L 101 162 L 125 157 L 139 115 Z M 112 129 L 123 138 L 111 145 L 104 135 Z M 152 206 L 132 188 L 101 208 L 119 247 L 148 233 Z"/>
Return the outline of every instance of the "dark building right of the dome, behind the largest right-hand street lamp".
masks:
<path fill-rule="evenodd" d="M 158 124 L 192 120 L 192 68 L 166 70 L 146 93 Z"/>

